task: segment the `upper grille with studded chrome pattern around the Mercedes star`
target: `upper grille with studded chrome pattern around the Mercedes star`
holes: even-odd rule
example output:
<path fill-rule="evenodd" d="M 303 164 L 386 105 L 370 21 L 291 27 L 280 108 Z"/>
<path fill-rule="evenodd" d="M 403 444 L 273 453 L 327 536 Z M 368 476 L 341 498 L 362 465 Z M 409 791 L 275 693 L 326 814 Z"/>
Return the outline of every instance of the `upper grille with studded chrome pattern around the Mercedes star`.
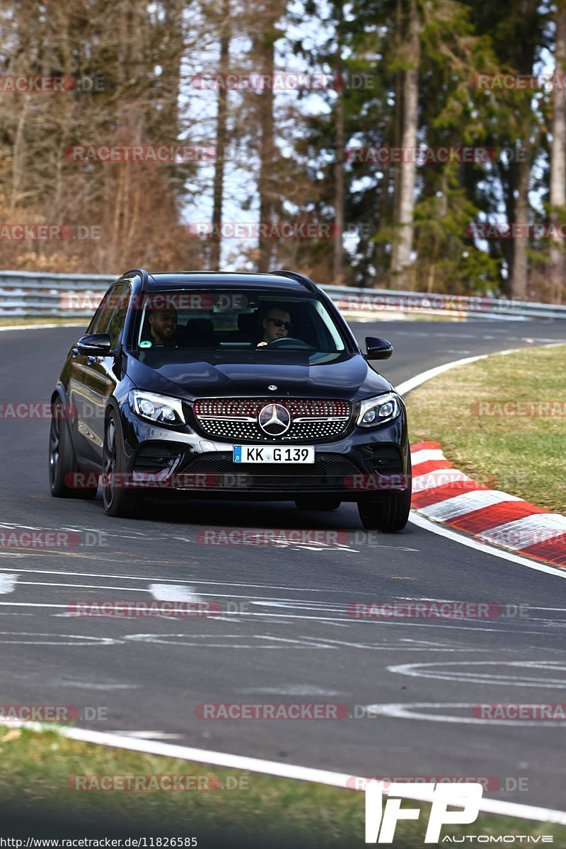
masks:
<path fill-rule="evenodd" d="M 277 421 L 267 424 L 266 430 L 261 427 L 264 408 L 264 419 L 276 412 L 277 420 L 283 420 L 281 428 Z M 193 403 L 193 413 L 206 436 L 238 442 L 315 442 L 345 433 L 351 405 L 318 398 L 199 398 Z M 284 424 L 288 425 L 285 430 Z"/>

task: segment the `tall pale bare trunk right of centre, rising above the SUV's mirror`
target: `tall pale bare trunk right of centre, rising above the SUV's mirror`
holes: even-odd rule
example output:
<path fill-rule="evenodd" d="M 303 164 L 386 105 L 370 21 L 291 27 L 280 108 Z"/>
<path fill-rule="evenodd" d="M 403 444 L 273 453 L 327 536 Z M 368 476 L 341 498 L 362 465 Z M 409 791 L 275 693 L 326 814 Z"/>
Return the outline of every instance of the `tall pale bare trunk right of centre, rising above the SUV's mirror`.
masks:
<path fill-rule="evenodd" d="M 414 194 L 417 169 L 411 152 L 417 147 L 418 66 L 420 62 L 418 30 L 417 0 L 410 0 L 407 59 L 410 60 L 413 67 L 404 72 L 403 137 L 401 141 L 401 147 L 407 153 L 405 157 L 407 161 L 401 163 L 399 218 L 395 221 L 398 233 L 391 256 L 391 271 L 397 277 L 397 284 L 401 289 L 406 289 L 409 281 L 408 266 L 411 261 L 412 219 L 415 207 Z"/>

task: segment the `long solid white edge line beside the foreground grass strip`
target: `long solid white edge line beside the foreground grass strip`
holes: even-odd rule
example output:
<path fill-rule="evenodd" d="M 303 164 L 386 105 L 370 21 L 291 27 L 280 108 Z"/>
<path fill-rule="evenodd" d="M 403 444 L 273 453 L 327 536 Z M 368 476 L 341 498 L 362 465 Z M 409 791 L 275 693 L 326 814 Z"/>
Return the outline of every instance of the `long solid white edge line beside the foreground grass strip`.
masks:
<path fill-rule="evenodd" d="M 42 731 L 38 722 L 10 722 L 3 721 L 3 725 L 10 728 L 18 725 Z M 53 730 L 53 728 L 50 728 Z M 148 755 L 160 755 L 164 757 L 176 757 L 182 761 L 194 761 L 197 763 L 210 763 L 216 767 L 227 767 L 228 769 L 240 769 L 250 773 L 262 773 L 273 775 L 282 779 L 294 779 L 298 781 L 311 781 L 315 784 L 328 784 L 331 787 L 350 788 L 352 777 L 346 773 L 333 773 L 326 769 L 315 769 L 301 767 L 293 763 L 278 763 L 277 761 L 266 761 L 257 757 L 244 755 L 231 755 L 223 751 L 207 751 L 196 749 L 191 746 L 174 745 L 172 743 L 161 743 L 159 740 L 141 740 L 125 737 L 120 734 L 109 734 L 103 731 L 90 731 L 87 728 L 57 728 L 59 734 L 69 739 L 81 740 L 84 743 L 95 745 L 112 746 L 129 751 L 140 751 Z M 373 770 L 378 772 L 378 770 Z M 361 779 L 362 776 L 359 776 Z M 354 780 L 356 785 L 356 781 Z M 364 782 L 360 782 L 363 786 Z M 389 790 L 388 784 L 382 784 L 385 793 Z M 433 801 L 430 790 L 423 790 L 415 784 L 406 793 L 406 798 L 413 801 Z M 531 819 L 543 823 L 566 824 L 566 811 L 557 811 L 551 808 L 535 807 L 533 805 L 521 805 L 518 802 L 501 801 L 498 799 L 483 799 L 479 803 L 479 810 L 485 813 L 495 813 L 501 816 L 517 817 L 520 819 Z"/>

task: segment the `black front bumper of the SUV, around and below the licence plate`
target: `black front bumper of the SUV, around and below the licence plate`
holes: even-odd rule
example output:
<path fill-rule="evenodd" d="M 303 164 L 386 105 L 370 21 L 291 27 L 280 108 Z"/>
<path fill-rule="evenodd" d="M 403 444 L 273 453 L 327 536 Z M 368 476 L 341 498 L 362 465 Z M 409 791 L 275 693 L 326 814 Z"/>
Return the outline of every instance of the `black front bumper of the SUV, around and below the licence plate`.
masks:
<path fill-rule="evenodd" d="M 337 440 L 311 442 L 314 464 L 235 464 L 232 442 L 146 422 L 127 404 L 120 417 L 131 486 L 153 497 L 175 492 L 198 498 L 292 501 L 325 495 L 359 501 L 411 488 L 404 411 L 373 430 L 354 427 Z"/>

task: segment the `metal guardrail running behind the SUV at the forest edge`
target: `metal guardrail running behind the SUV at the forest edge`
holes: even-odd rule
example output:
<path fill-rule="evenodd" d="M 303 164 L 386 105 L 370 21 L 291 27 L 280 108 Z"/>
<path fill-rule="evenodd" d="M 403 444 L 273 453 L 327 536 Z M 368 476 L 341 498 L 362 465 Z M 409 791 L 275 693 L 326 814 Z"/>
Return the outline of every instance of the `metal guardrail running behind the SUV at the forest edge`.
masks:
<path fill-rule="evenodd" d="M 0 272 L 0 318 L 88 318 L 118 275 Z M 350 318 L 412 312 L 457 318 L 564 318 L 566 306 L 474 295 L 323 287 Z"/>

